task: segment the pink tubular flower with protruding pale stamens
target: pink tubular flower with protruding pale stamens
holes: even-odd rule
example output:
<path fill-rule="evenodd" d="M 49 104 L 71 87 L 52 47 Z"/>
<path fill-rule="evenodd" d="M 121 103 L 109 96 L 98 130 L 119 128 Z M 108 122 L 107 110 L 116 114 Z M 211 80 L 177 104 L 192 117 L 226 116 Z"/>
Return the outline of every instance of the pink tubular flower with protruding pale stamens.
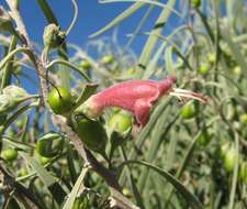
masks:
<path fill-rule="evenodd" d="M 164 95 L 198 99 L 206 102 L 206 98 L 184 89 L 172 88 L 175 76 L 164 80 L 130 80 L 116 84 L 97 95 L 91 96 L 83 105 L 82 111 L 90 118 L 100 116 L 105 108 L 120 107 L 132 112 L 137 122 L 144 127 L 149 119 L 150 109 Z"/>

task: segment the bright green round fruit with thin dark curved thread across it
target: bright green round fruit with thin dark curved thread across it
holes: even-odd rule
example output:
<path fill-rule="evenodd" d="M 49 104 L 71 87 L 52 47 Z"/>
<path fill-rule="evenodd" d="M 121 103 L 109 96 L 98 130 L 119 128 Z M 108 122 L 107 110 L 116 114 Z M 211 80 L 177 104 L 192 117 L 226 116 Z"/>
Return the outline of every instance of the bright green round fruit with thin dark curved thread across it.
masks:
<path fill-rule="evenodd" d="M 72 96 L 64 87 L 53 88 L 48 94 L 48 105 L 56 114 L 65 114 L 72 108 Z"/>

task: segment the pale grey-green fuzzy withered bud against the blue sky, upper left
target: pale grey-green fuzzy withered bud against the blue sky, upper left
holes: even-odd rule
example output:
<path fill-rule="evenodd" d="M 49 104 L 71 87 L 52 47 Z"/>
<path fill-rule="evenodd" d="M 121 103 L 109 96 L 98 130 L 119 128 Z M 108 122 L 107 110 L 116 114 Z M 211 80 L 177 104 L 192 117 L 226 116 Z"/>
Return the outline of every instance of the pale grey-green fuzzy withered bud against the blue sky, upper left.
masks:
<path fill-rule="evenodd" d="M 58 47 L 66 37 L 66 33 L 60 31 L 56 24 L 48 24 L 43 34 L 44 45 L 50 48 Z"/>

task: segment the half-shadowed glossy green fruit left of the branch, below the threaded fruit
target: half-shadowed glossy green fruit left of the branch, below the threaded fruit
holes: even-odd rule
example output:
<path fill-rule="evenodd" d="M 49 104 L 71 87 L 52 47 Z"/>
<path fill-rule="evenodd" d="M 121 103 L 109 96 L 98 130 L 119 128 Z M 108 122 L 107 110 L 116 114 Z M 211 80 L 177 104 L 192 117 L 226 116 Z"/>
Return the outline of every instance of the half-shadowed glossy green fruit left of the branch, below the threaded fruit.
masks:
<path fill-rule="evenodd" d="M 64 138 L 58 133 L 47 133 L 38 139 L 36 151 L 41 156 L 54 157 L 61 153 L 64 147 Z"/>

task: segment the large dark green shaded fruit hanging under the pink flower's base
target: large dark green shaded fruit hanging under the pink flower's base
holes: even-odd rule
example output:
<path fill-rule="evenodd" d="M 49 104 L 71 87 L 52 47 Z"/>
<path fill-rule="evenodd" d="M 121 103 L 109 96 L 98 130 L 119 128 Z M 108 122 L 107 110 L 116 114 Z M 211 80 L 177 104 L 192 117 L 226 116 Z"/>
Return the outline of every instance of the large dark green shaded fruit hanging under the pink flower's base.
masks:
<path fill-rule="evenodd" d="M 108 135 L 99 121 L 81 119 L 76 123 L 76 132 L 89 150 L 104 153 Z"/>

